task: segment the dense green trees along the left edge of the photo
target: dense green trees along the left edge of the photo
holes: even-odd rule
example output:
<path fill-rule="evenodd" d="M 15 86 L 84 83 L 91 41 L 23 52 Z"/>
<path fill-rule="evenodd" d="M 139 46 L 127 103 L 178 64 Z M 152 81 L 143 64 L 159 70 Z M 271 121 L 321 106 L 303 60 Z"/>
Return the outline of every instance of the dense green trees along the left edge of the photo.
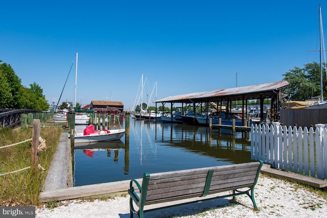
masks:
<path fill-rule="evenodd" d="M 43 89 L 36 84 L 27 88 L 15 74 L 10 64 L 0 61 L 0 108 L 49 110 Z"/>

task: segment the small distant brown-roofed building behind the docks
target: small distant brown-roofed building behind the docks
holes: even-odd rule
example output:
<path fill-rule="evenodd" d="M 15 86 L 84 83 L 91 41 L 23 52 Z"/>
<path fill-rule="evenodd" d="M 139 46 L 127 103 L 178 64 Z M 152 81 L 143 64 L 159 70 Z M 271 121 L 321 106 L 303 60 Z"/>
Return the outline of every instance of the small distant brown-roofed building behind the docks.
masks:
<path fill-rule="evenodd" d="M 122 102 L 92 100 L 90 104 L 90 110 L 94 110 L 96 113 L 105 114 L 122 113 L 124 110 L 124 104 Z"/>

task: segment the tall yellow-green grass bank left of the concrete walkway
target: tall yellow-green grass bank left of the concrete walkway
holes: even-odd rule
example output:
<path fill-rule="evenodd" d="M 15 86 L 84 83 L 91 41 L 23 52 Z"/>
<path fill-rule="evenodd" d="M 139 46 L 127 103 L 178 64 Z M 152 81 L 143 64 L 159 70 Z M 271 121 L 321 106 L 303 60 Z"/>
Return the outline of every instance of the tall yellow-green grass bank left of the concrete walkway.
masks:
<path fill-rule="evenodd" d="M 1 129 L 0 147 L 32 138 L 33 129 Z M 38 163 L 48 170 L 56 151 L 60 128 L 41 128 L 40 136 L 45 139 L 46 149 L 39 151 Z M 0 149 L 0 174 L 31 166 L 32 141 L 16 146 Z M 46 173 L 31 168 L 0 176 L 0 206 L 36 206 L 39 204 L 39 193 L 42 189 Z"/>

